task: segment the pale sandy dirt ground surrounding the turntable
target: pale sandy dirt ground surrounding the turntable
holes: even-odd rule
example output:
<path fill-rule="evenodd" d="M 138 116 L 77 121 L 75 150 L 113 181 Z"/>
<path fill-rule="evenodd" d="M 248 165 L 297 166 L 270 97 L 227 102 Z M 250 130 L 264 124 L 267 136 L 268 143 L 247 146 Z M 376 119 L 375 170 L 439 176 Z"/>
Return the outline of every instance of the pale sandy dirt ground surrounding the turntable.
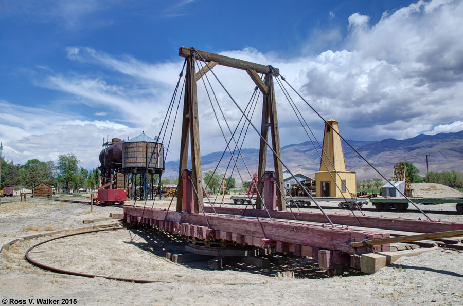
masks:
<path fill-rule="evenodd" d="M 74 196 L 73 199 L 84 200 Z M 70 199 L 70 197 L 68 197 Z M 17 199 L 16 199 L 17 200 Z M 117 220 L 83 224 L 84 220 L 121 213 L 114 206 L 28 199 L 0 204 L 0 245 L 19 237 L 50 231 L 102 225 Z M 127 204 L 133 204 L 128 202 Z M 137 202 L 137 205 L 145 205 Z M 152 207 L 153 201 L 147 202 Z M 168 201 L 154 207 L 167 208 Z M 347 214 L 337 203 L 324 202 L 328 213 Z M 367 205 L 366 207 L 370 207 Z M 421 206 L 433 219 L 463 222 L 454 204 Z M 293 208 L 297 209 L 297 208 Z M 304 208 L 316 211 L 316 208 Z M 359 214 L 358 211 L 355 212 Z M 423 218 L 415 208 L 407 212 L 365 211 L 369 216 Z M 77 231 L 76 231 L 77 232 Z M 71 233 L 71 232 L 69 232 Z M 61 234 L 57 234 L 58 237 Z M 78 305 L 308 305 L 340 303 L 360 305 L 461 305 L 463 304 L 463 252 L 435 250 L 416 257 L 402 257 L 372 275 L 348 271 L 329 278 L 308 258 L 288 258 L 282 266 L 251 267 L 224 271 L 207 269 L 195 262 L 175 264 L 165 259 L 167 251 L 181 250 L 182 239 L 147 228 L 121 229 L 83 234 L 35 248 L 30 256 L 41 263 L 65 270 L 106 276 L 157 280 L 137 284 L 103 278 L 84 278 L 47 272 L 29 264 L 26 250 L 51 237 L 39 237 L 13 244 L 0 255 L 0 298 L 25 301 L 37 298 L 76 299 Z M 295 278 L 277 278 L 277 272 L 293 271 Z M 64 299 L 64 300 L 61 300 Z M 71 302 L 73 302 L 71 300 Z"/>

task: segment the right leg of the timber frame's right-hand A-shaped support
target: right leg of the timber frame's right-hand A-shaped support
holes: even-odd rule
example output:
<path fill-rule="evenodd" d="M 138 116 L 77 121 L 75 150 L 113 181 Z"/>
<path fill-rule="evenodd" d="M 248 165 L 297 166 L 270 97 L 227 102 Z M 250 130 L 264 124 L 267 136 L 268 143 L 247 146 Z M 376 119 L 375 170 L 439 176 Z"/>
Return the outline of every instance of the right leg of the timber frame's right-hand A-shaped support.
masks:
<path fill-rule="evenodd" d="M 281 159 L 281 146 L 280 146 L 280 133 L 278 129 L 278 117 L 277 117 L 277 110 L 276 110 L 276 101 L 275 101 L 275 87 L 273 85 L 273 76 L 269 73 L 269 78 L 265 79 L 265 85 L 269 90 L 269 117 L 270 117 L 270 129 L 272 132 L 272 147 L 273 150 L 276 152 L 278 157 Z M 283 167 L 281 165 L 280 160 L 274 155 L 273 156 L 273 165 L 275 167 L 275 183 L 278 184 L 279 189 L 281 192 L 286 190 L 283 185 Z M 278 202 L 278 210 L 282 211 L 286 209 L 286 205 L 284 205 L 284 197 L 282 193 L 277 193 L 277 202 Z"/>

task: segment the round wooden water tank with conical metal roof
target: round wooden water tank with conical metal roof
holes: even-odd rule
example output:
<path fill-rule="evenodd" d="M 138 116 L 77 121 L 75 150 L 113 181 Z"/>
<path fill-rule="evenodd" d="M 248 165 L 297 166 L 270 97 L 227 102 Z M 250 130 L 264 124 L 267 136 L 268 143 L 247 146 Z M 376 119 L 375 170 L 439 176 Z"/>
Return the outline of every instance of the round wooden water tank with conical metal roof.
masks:
<path fill-rule="evenodd" d="M 162 173 L 163 166 L 163 144 L 146 136 L 145 133 L 122 143 L 124 172 L 141 173 L 148 169 L 150 173 Z"/>

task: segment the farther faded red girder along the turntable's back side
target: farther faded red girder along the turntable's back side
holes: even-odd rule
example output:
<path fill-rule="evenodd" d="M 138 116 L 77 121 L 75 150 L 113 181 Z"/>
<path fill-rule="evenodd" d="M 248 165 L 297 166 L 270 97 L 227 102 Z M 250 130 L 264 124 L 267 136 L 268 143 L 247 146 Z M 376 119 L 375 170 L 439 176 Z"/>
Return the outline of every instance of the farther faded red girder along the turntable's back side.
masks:
<path fill-rule="evenodd" d="M 255 217 L 256 212 L 254 209 L 234 208 L 234 207 L 214 207 L 216 212 L 219 214 L 229 215 L 242 215 Z M 212 212 L 212 207 L 205 206 L 206 212 Z M 342 214 L 327 214 L 331 221 L 335 224 L 348 225 L 348 226 L 360 226 L 359 222 L 353 215 L 342 215 Z M 268 214 L 263 210 L 257 210 L 258 217 L 268 217 Z M 275 219 L 287 219 L 295 220 L 296 216 L 299 221 L 309 221 L 318 223 L 327 223 L 325 216 L 321 213 L 308 213 L 308 212 L 294 212 L 294 215 L 288 211 L 270 211 L 270 216 Z M 395 230 L 395 231 L 406 231 L 406 232 L 418 232 L 418 233 L 434 233 L 434 232 L 446 232 L 455 231 L 463 228 L 463 223 L 452 223 L 442 221 L 428 221 L 428 220 L 412 220 L 403 218 L 385 218 L 385 217 L 368 217 L 368 216 L 357 216 L 363 227 L 379 228 L 382 230 Z"/>

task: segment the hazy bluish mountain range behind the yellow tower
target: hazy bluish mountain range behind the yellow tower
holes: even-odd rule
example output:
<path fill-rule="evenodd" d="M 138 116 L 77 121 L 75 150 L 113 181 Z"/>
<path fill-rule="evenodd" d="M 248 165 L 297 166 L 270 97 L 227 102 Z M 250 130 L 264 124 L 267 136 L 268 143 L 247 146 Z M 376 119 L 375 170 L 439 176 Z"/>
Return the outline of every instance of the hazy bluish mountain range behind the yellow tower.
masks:
<path fill-rule="evenodd" d="M 321 141 L 321 140 L 320 140 Z M 381 141 L 347 140 L 360 154 L 362 154 L 373 166 L 389 178 L 393 174 L 393 165 L 401 162 L 411 162 L 420 169 L 420 174 L 426 173 L 426 159 L 430 171 L 463 171 L 463 131 L 456 133 L 439 133 L 436 135 L 418 135 L 413 138 L 396 140 L 392 138 Z M 317 148 L 318 145 L 315 144 Z M 344 141 L 344 157 L 346 167 L 357 173 L 357 179 L 379 177 L 375 170 L 369 167 Z M 243 158 L 250 169 L 251 174 L 257 171 L 259 156 L 258 149 L 242 149 Z M 293 172 L 300 172 L 311 177 L 320 166 L 320 157 L 312 142 L 306 141 L 299 144 L 290 144 L 281 148 L 283 162 Z M 213 152 L 201 156 L 202 170 L 215 168 L 223 152 Z M 244 179 L 249 176 L 244 168 L 241 157 L 235 156 L 241 174 Z M 230 160 L 230 153 L 226 152 L 219 166 L 219 173 L 224 173 Z M 273 169 L 273 158 L 267 155 L 267 168 Z M 231 162 L 230 170 L 234 163 Z M 176 176 L 179 169 L 179 161 L 166 163 L 166 176 Z M 243 169 L 243 170 L 242 170 Z M 229 171 L 230 171 L 229 170 Z M 239 179 L 235 170 L 233 176 Z"/>

